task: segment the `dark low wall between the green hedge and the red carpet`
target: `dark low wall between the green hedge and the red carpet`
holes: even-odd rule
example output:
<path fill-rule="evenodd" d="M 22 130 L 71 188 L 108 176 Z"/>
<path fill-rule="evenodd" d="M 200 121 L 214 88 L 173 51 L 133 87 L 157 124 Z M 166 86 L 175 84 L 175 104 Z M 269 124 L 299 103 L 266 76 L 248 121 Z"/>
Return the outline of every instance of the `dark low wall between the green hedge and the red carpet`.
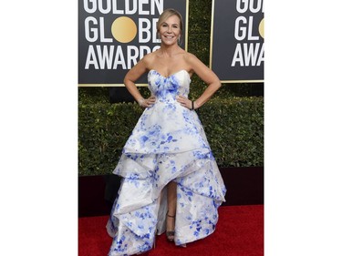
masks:
<path fill-rule="evenodd" d="M 264 169 L 220 169 L 227 187 L 223 206 L 264 204 Z M 78 216 L 109 215 L 120 185 L 116 175 L 78 178 Z"/>

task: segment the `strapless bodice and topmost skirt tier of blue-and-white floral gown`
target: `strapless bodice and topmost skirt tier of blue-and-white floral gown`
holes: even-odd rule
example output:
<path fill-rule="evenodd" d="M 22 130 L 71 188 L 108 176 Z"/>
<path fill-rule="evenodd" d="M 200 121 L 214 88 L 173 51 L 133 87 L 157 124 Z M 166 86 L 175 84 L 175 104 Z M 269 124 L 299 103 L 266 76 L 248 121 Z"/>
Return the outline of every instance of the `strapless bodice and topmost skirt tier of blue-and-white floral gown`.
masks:
<path fill-rule="evenodd" d="M 169 77 L 156 70 L 148 74 L 151 94 L 156 102 L 145 108 L 123 151 L 161 154 L 205 148 L 209 151 L 201 121 L 195 111 L 181 106 L 178 95 L 188 97 L 191 79 L 181 69 Z"/>

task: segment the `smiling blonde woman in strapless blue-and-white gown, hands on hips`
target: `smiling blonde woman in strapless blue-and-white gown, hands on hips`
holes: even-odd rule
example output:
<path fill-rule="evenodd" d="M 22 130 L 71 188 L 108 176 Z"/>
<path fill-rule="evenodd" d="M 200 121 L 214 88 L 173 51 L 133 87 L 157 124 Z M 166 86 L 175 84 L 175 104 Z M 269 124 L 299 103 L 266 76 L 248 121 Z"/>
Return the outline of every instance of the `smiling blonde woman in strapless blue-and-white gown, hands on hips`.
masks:
<path fill-rule="evenodd" d="M 178 246 L 210 235 L 226 192 L 194 109 L 221 87 L 219 78 L 196 56 L 178 46 L 181 15 L 165 10 L 157 24 L 161 48 L 144 56 L 124 78 L 145 108 L 113 173 L 122 177 L 107 224 L 113 241 L 109 256 L 149 251 L 166 231 Z M 145 72 L 151 96 L 141 97 L 134 82 Z M 192 74 L 208 85 L 188 99 Z"/>

